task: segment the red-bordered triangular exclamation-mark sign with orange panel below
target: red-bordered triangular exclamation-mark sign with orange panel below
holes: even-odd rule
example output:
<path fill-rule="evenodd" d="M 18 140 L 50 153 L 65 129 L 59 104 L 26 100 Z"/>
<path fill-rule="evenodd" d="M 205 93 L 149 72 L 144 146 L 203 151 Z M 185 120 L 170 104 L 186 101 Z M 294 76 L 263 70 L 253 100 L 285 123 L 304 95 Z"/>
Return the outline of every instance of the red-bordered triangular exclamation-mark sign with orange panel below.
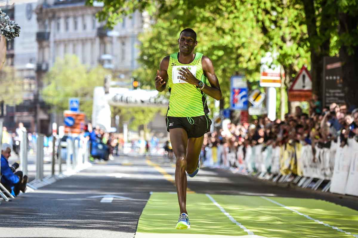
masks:
<path fill-rule="evenodd" d="M 295 78 L 289 89 L 289 101 L 309 101 L 312 97 L 311 75 L 305 66 Z"/>

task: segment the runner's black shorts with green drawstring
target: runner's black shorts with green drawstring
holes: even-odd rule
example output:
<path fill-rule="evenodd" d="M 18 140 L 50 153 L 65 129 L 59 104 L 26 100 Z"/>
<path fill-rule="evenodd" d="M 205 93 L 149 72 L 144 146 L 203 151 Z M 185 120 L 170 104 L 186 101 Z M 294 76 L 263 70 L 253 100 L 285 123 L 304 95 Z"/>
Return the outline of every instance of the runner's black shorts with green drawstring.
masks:
<path fill-rule="evenodd" d="M 188 133 L 188 138 L 202 137 L 210 131 L 211 120 L 208 115 L 192 116 L 192 117 L 175 117 L 167 116 L 166 130 L 174 128 L 183 128 Z"/>

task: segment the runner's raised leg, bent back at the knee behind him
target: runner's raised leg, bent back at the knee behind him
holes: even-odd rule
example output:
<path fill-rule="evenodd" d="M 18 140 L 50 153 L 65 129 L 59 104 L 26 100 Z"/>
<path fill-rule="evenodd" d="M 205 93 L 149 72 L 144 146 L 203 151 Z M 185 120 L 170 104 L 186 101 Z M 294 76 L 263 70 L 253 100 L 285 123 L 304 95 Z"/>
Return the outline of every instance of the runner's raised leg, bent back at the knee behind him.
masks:
<path fill-rule="evenodd" d="M 187 146 L 187 172 L 193 173 L 198 167 L 199 155 L 203 146 L 204 135 L 198 138 L 189 138 Z"/>

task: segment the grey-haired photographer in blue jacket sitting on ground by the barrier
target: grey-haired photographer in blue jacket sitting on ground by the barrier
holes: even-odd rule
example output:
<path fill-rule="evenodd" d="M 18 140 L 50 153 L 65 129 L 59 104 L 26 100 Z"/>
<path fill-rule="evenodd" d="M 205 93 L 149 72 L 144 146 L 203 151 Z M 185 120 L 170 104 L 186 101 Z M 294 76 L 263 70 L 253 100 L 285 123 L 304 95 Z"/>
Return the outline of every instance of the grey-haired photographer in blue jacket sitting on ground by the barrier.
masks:
<path fill-rule="evenodd" d="M 22 171 L 15 170 L 19 167 L 18 163 L 9 166 L 9 157 L 11 156 L 11 146 L 4 143 L 1 147 L 1 184 L 11 192 L 12 195 L 17 196 L 20 192 L 26 191 L 27 176 L 23 176 Z"/>

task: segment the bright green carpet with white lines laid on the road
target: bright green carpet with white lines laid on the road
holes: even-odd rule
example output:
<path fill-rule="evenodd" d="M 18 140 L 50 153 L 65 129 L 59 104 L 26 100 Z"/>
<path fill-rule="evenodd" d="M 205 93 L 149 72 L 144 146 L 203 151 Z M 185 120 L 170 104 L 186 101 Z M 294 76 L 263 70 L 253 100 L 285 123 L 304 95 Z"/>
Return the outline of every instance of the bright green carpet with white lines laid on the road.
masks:
<path fill-rule="evenodd" d="M 322 200 L 267 197 L 320 222 L 338 227 L 345 234 L 303 215 L 288 210 L 260 196 L 211 195 L 238 223 L 255 235 L 281 238 L 338 238 L 358 234 L 358 211 Z M 205 195 L 187 194 L 191 228 L 176 230 L 179 205 L 176 194 L 154 192 L 148 200 L 137 227 L 138 233 L 248 235 Z"/>

